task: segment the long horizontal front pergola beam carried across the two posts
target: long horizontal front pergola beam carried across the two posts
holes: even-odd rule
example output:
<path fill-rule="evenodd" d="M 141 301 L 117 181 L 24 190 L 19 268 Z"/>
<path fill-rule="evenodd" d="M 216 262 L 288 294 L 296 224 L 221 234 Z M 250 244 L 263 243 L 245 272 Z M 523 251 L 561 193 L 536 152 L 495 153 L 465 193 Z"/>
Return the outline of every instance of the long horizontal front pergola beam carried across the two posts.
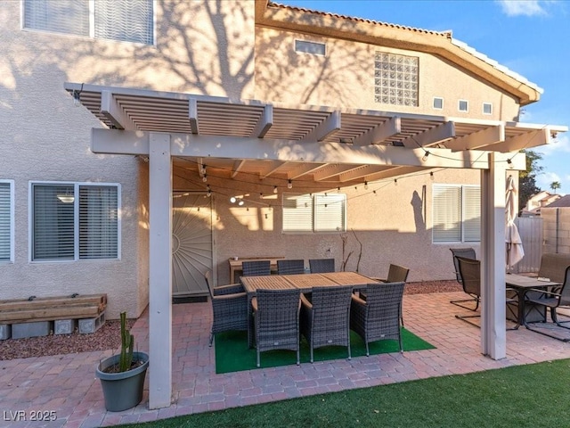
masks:
<path fill-rule="evenodd" d="M 94 128 L 92 151 L 109 154 L 149 154 L 148 132 L 120 131 Z M 290 161 L 303 163 L 338 163 L 351 165 L 406 165 L 422 168 L 488 169 L 487 152 L 430 148 L 423 161 L 425 149 L 406 149 L 388 144 L 354 147 L 354 144 L 303 143 L 291 140 L 260 139 L 232 136 L 194 136 L 170 134 L 173 156 L 192 158 L 241 159 L 248 161 Z M 499 154 L 499 153 L 498 153 Z M 497 156 L 502 161 L 508 153 Z M 511 169 L 525 170 L 525 157 L 517 156 Z"/>

